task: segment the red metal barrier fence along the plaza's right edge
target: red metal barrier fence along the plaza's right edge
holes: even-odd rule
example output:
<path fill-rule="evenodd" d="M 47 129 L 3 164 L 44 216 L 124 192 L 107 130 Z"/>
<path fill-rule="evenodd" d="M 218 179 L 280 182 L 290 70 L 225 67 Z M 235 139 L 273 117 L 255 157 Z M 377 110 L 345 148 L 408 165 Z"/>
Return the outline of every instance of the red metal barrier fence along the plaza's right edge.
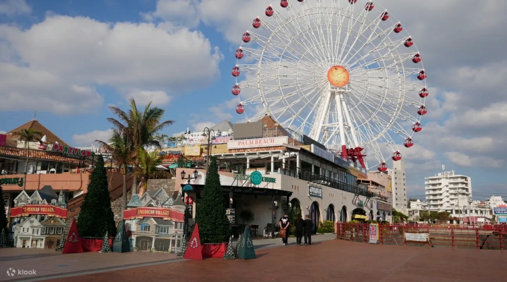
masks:
<path fill-rule="evenodd" d="M 338 239 L 368 242 L 368 224 L 337 223 Z M 506 225 L 485 225 L 483 227 L 460 227 L 454 225 L 380 225 L 379 244 L 428 246 L 430 248 L 503 250 Z M 406 241 L 405 233 L 427 233 L 428 241 Z"/>

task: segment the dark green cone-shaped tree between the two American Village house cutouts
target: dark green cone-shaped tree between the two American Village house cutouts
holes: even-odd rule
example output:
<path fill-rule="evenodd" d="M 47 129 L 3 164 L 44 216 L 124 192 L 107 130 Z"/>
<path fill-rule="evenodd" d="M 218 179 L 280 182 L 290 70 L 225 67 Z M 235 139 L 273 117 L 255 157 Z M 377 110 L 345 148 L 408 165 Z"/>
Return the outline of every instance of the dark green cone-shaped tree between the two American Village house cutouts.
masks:
<path fill-rule="evenodd" d="M 90 175 L 88 192 L 78 217 L 78 230 L 82 237 L 102 238 L 105 232 L 112 237 L 116 236 L 115 215 L 111 209 L 107 174 L 101 155 L 98 156 L 97 164 Z"/>

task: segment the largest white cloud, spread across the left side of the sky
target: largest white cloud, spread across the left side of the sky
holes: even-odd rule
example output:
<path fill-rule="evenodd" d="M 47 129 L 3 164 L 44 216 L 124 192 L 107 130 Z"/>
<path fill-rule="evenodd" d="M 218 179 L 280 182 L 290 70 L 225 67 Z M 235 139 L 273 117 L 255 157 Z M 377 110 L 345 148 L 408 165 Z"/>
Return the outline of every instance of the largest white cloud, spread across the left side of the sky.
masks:
<path fill-rule="evenodd" d="M 125 96 L 135 89 L 163 91 L 165 97 L 157 95 L 168 102 L 171 93 L 213 82 L 223 57 L 202 33 L 188 28 L 57 15 L 26 30 L 0 25 L 0 50 L 10 54 L 0 63 L 0 110 L 58 114 L 98 108 L 102 97 L 95 85 Z"/>

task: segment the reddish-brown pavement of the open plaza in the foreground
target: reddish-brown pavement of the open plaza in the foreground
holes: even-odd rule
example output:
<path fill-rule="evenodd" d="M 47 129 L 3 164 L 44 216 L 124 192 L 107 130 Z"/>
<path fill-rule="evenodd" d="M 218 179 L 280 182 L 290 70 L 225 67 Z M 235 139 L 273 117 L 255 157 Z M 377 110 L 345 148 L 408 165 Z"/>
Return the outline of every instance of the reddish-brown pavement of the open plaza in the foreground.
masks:
<path fill-rule="evenodd" d="M 51 281 L 505 281 L 507 253 L 341 240 L 257 250 L 256 260 L 207 259 Z M 47 280 L 50 281 L 50 280 Z"/>

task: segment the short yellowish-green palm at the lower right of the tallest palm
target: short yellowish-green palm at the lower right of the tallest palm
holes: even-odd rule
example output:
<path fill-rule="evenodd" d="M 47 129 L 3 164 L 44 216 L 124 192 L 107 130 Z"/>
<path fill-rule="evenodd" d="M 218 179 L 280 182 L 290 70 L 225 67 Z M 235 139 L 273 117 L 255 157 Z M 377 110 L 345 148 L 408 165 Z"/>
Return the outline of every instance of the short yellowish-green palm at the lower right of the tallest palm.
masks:
<path fill-rule="evenodd" d="M 140 189 L 140 192 L 146 191 L 149 179 L 170 176 L 169 172 L 157 169 L 157 166 L 162 164 L 162 158 L 159 156 L 158 150 L 148 152 L 144 150 L 144 148 L 139 148 L 137 151 L 137 160 L 139 162 L 139 167 L 134 171 L 134 175 L 141 179 L 142 189 Z"/>

